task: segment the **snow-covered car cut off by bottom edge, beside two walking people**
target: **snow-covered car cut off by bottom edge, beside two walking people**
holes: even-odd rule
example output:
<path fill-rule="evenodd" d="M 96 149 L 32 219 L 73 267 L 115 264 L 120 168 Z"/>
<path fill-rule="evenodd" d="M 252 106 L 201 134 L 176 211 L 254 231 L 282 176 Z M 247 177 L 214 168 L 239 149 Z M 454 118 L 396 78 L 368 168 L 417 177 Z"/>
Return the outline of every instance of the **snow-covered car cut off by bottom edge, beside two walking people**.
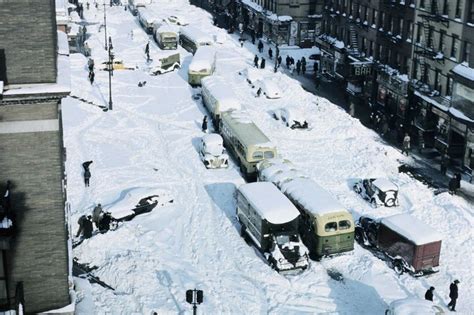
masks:
<path fill-rule="evenodd" d="M 417 298 L 405 298 L 390 303 L 385 315 L 442 315 L 446 314 L 442 306 L 431 301 Z"/>

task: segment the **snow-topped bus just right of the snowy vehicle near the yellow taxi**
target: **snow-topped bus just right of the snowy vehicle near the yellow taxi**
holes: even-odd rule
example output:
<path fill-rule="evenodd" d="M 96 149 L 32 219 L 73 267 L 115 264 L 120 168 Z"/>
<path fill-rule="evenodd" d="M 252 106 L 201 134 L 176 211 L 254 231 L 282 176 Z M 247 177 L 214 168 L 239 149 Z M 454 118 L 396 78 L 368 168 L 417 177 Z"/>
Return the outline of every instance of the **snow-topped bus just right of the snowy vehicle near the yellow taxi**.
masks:
<path fill-rule="evenodd" d="M 201 85 L 201 79 L 214 73 L 216 68 L 216 51 L 213 47 L 202 46 L 196 51 L 188 68 L 188 83 L 191 86 Z"/>

